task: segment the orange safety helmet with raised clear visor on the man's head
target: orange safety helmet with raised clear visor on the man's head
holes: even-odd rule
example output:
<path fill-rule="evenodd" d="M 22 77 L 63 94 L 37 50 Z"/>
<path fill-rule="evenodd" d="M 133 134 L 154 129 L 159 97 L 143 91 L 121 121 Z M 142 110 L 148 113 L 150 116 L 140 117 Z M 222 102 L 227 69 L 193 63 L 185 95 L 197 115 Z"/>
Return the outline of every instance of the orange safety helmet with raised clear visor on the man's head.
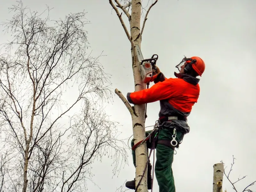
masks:
<path fill-rule="evenodd" d="M 182 61 L 176 65 L 176 67 L 179 69 L 180 66 L 184 65 L 186 63 L 190 63 L 192 68 L 196 71 L 196 73 L 199 76 L 202 76 L 202 74 L 204 73 L 204 69 L 205 69 L 205 63 L 204 60 L 202 60 L 200 57 L 190 57 L 187 58 L 186 56 L 182 59 Z M 186 70 L 186 68 L 185 68 Z M 179 69 L 180 71 L 180 69 Z"/>

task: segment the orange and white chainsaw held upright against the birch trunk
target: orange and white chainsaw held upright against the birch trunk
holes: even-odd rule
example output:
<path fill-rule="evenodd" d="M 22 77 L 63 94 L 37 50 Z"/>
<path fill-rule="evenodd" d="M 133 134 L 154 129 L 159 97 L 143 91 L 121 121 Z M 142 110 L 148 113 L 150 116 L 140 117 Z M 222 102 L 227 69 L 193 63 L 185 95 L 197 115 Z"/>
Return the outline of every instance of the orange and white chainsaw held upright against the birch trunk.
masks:
<path fill-rule="evenodd" d="M 135 49 L 137 52 L 141 79 L 143 83 L 149 84 L 150 82 L 154 81 L 157 76 L 156 61 L 158 59 L 158 55 L 154 54 L 150 59 L 144 59 L 139 45 L 135 45 Z"/>

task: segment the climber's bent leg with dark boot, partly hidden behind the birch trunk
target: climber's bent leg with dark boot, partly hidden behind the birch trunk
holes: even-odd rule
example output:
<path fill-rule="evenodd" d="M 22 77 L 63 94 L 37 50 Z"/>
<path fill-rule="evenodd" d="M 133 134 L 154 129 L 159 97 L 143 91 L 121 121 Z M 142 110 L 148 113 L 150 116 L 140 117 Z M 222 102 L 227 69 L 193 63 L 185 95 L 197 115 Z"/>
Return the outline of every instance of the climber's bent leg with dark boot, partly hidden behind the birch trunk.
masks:
<path fill-rule="evenodd" d="M 152 130 L 150 131 L 146 131 L 146 137 L 152 132 Z M 134 146 L 134 139 L 132 139 L 131 141 L 131 146 L 133 147 Z M 151 143 L 149 140 L 147 140 L 147 148 L 151 148 Z M 134 167 L 136 166 L 136 156 L 135 156 L 135 151 L 132 150 L 132 160 L 133 160 L 133 165 Z M 151 175 L 151 170 L 152 170 L 152 165 L 151 163 L 149 162 L 148 163 L 148 189 L 151 189 L 151 184 L 152 184 L 152 175 Z M 130 188 L 130 189 L 135 189 L 135 178 L 134 180 L 132 181 L 127 181 L 125 183 L 125 186 L 127 188 Z"/>

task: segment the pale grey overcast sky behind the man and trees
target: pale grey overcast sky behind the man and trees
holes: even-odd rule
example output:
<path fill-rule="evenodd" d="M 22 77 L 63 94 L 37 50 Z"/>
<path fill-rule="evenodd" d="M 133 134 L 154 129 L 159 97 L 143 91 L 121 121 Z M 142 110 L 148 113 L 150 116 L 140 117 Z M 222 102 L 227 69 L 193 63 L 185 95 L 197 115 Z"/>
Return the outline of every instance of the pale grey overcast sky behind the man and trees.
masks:
<path fill-rule="evenodd" d="M 1 0 L 1 21 L 11 17 L 7 8 L 14 3 L 14 0 Z M 145 6 L 147 1 L 143 3 Z M 107 55 L 100 62 L 106 72 L 113 75 L 113 88 L 124 95 L 134 91 L 130 42 L 108 0 L 24 0 L 24 4 L 38 11 L 45 9 L 45 4 L 54 7 L 52 19 L 83 9 L 88 12 L 91 24 L 85 28 L 93 54 L 97 56 L 104 51 Z M 161 0 L 148 15 L 141 50 L 145 58 L 158 54 L 157 65 L 165 76 L 174 76 L 175 65 L 183 55 L 202 57 L 206 64 L 199 83 L 198 103 L 188 117 L 190 133 L 185 135 L 174 156 L 177 191 L 211 191 L 213 164 L 223 160 L 229 170 L 232 155 L 237 160 L 231 178 L 235 181 L 239 176 L 248 175 L 237 184 L 239 191 L 256 180 L 255 8 L 254 0 Z M 8 35 L 2 34 L 0 43 L 8 39 Z M 108 114 L 124 125 L 120 131 L 124 137 L 129 137 L 132 135 L 131 117 L 119 97 L 114 99 L 114 104 L 107 108 Z M 159 108 L 159 102 L 148 104 L 147 126 L 155 123 Z M 111 159 L 95 162 L 93 179 L 99 187 L 88 182 L 89 191 L 115 191 L 125 180 L 135 176 L 131 154 L 129 166 L 121 170 L 118 178 L 112 178 L 110 165 Z M 233 190 L 226 179 L 223 185 L 228 192 Z M 153 190 L 158 191 L 156 178 Z"/>

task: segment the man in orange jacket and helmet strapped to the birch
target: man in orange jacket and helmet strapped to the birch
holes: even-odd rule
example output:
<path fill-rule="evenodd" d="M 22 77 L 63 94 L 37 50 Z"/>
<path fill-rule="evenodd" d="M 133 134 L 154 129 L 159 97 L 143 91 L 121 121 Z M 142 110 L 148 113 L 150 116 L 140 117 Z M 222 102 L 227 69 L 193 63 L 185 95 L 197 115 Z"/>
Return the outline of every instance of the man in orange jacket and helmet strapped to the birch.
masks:
<path fill-rule="evenodd" d="M 177 78 L 167 79 L 159 68 L 154 80 L 154 85 L 149 89 L 138 92 L 127 93 L 127 100 L 131 104 L 144 104 L 160 101 L 159 121 L 160 129 L 158 141 L 156 143 L 156 164 L 155 174 L 159 186 L 159 192 L 175 192 L 174 178 L 172 172 L 172 162 L 175 147 L 170 145 L 174 128 L 176 129 L 176 141 L 179 147 L 184 135 L 189 132 L 187 117 L 192 110 L 192 106 L 197 102 L 200 92 L 199 80 L 197 76 L 202 76 L 205 64 L 199 57 L 183 58 L 176 66 L 179 73 L 174 72 Z M 168 118 L 169 117 L 169 118 Z M 172 119 L 172 120 L 168 120 Z M 175 120 L 173 120 L 175 119 Z M 146 132 L 146 136 L 151 131 Z M 132 140 L 132 147 L 134 140 Z M 147 141 L 147 147 L 151 144 Z M 132 151 L 133 164 L 135 162 L 135 152 Z M 148 164 L 148 189 L 151 189 L 152 165 Z M 127 181 L 125 186 L 135 189 L 135 179 Z"/>

